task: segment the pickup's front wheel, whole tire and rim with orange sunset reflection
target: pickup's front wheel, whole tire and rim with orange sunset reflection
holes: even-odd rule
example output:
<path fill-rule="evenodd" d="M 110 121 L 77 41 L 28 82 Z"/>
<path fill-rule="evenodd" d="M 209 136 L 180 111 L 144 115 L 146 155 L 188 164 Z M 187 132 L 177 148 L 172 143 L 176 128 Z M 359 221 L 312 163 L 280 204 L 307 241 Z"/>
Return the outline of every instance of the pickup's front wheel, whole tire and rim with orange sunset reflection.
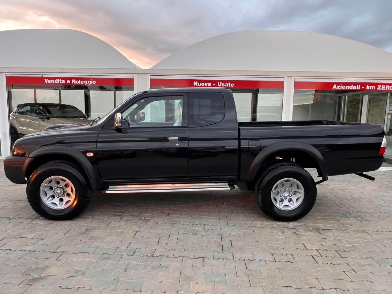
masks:
<path fill-rule="evenodd" d="M 27 181 L 27 200 L 48 220 L 71 220 L 87 207 L 90 189 L 71 162 L 52 161 L 38 167 Z"/>

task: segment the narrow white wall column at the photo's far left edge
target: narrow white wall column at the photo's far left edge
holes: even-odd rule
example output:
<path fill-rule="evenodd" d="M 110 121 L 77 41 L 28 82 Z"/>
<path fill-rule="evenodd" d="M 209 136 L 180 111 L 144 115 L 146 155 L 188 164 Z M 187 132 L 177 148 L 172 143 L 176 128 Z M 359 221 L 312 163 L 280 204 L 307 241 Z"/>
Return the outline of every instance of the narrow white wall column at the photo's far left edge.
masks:
<path fill-rule="evenodd" d="M 7 84 L 5 82 L 5 74 L 0 74 L 0 140 L 1 155 L 11 155 L 11 142 L 9 140 L 9 113 L 7 100 Z"/>

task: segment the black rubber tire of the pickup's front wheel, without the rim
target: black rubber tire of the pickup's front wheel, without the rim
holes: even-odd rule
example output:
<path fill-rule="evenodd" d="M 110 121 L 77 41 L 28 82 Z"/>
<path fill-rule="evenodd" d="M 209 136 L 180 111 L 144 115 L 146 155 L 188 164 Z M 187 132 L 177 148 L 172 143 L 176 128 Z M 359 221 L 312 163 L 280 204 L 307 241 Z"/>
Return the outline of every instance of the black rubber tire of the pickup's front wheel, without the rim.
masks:
<path fill-rule="evenodd" d="M 75 197 L 65 209 L 47 206 L 40 196 L 41 184 L 51 176 L 67 178 L 74 185 Z M 27 200 L 34 211 L 48 220 L 72 220 L 80 215 L 89 204 L 91 189 L 79 167 L 67 161 L 51 161 L 38 167 L 27 181 Z"/>

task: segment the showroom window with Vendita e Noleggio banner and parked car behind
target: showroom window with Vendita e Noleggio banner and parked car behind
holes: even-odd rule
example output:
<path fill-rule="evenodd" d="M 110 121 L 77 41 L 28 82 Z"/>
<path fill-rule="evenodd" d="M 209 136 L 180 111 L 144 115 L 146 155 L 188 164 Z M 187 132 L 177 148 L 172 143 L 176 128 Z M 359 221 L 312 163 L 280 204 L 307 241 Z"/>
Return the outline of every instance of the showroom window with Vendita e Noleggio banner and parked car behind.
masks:
<path fill-rule="evenodd" d="M 49 125 L 89 123 L 134 93 L 133 77 L 6 76 L 6 81 L 11 143 Z"/>

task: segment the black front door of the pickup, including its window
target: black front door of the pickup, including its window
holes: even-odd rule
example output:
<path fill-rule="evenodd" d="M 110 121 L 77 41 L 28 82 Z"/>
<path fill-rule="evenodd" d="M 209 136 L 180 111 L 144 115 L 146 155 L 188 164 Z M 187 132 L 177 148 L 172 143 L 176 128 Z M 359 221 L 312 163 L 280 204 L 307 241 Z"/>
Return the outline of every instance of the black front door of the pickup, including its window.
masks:
<path fill-rule="evenodd" d="M 122 127 L 115 128 L 113 120 L 98 134 L 96 153 L 102 181 L 189 178 L 186 110 L 186 93 L 143 96 L 123 109 Z"/>

